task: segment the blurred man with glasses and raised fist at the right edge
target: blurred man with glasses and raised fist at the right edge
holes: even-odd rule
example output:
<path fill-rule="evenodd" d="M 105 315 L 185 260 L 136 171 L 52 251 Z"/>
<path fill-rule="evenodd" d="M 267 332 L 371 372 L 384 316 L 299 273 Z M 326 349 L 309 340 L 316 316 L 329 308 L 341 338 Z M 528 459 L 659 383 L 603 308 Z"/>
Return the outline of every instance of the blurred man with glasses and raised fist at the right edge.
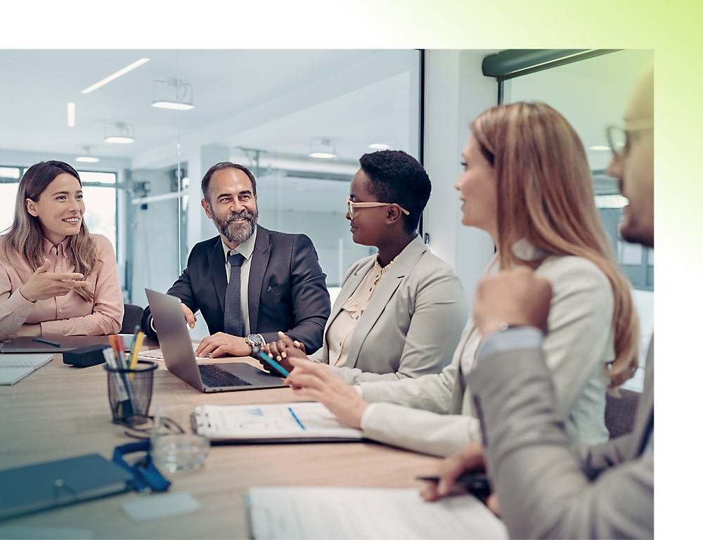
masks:
<path fill-rule="evenodd" d="M 624 126 L 609 128 L 608 138 L 608 174 L 628 198 L 620 234 L 653 248 L 653 68 L 636 84 Z M 572 447 L 541 350 L 551 294 L 549 282 L 526 268 L 479 284 L 474 317 L 484 339 L 468 383 L 485 448 L 470 444 L 446 458 L 439 484 L 428 484 L 423 497 L 446 495 L 463 470 L 485 465 L 494 489 L 489 507 L 512 540 L 654 538 L 654 338 L 633 431 Z"/>

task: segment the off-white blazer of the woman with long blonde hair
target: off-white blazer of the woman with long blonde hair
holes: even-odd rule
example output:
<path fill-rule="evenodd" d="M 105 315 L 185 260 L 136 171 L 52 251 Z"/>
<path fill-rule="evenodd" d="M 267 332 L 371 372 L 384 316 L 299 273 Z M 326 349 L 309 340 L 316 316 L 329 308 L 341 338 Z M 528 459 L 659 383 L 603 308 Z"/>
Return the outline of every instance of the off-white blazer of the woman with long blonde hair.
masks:
<path fill-rule="evenodd" d="M 610 281 L 581 257 L 549 257 L 536 274 L 549 279 L 552 301 L 546 363 L 554 380 L 557 413 L 574 442 L 607 441 L 605 364 L 614 359 Z M 425 454 L 449 456 L 481 442 L 481 429 L 465 378 L 480 335 L 467 323 L 451 364 L 437 375 L 394 383 L 361 383 L 373 405 L 364 413 L 364 436 Z M 467 358 L 470 356 L 470 358 Z"/>

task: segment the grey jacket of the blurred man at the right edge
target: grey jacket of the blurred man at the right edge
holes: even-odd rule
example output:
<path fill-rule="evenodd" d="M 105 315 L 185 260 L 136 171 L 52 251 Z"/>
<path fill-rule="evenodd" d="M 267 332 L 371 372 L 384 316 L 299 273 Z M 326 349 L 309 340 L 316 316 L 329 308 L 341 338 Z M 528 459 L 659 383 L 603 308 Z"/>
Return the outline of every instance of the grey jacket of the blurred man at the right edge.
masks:
<path fill-rule="evenodd" d="M 654 336 L 633 432 L 600 446 L 569 445 L 538 349 L 489 356 L 469 385 L 510 539 L 654 538 Z"/>

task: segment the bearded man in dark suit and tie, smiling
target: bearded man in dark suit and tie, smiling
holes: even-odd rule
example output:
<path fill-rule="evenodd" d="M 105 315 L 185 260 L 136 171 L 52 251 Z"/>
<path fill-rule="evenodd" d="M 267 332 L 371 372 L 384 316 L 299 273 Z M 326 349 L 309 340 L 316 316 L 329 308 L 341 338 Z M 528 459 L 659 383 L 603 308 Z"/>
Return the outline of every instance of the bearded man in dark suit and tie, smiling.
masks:
<path fill-rule="evenodd" d="M 282 330 L 310 350 L 322 345 L 330 316 L 325 274 L 310 238 L 257 225 L 257 183 L 243 165 L 221 162 L 202 177 L 202 208 L 219 236 L 200 242 L 168 290 L 193 328 L 195 311 L 211 335 L 196 355 L 247 356 Z M 142 328 L 156 337 L 150 309 Z"/>

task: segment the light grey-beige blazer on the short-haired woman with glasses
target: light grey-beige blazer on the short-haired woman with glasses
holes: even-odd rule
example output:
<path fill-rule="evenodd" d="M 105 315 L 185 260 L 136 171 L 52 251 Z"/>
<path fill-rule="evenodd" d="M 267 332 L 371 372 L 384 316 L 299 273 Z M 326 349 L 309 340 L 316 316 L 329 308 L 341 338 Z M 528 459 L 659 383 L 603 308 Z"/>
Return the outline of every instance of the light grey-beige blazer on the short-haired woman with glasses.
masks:
<path fill-rule="evenodd" d="M 311 359 L 329 364 L 330 324 L 374 260 L 375 255 L 361 259 L 347 271 L 325 326 L 323 345 Z M 346 366 L 332 369 L 348 383 L 438 373 L 451 361 L 468 312 L 456 272 L 416 236 L 398 255 L 357 321 Z"/>

